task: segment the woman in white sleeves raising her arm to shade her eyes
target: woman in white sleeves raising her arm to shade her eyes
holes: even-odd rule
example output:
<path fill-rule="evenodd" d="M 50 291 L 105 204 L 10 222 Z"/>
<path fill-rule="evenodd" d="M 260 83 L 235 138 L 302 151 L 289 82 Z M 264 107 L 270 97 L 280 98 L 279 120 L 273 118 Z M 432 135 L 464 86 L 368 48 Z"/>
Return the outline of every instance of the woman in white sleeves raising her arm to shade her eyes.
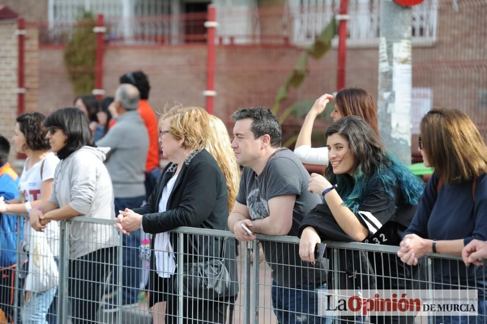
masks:
<path fill-rule="evenodd" d="M 316 100 L 306 115 L 296 140 L 294 153 L 303 163 L 328 164 L 327 148 L 311 147 L 311 132 L 313 131 L 315 119 L 331 101 L 335 101 L 335 109 L 330 114 L 334 122 L 342 117 L 358 116 L 365 120 L 376 134 L 379 133 L 374 99 L 369 92 L 360 88 L 347 88 L 338 91 L 335 97 L 326 93 Z"/>

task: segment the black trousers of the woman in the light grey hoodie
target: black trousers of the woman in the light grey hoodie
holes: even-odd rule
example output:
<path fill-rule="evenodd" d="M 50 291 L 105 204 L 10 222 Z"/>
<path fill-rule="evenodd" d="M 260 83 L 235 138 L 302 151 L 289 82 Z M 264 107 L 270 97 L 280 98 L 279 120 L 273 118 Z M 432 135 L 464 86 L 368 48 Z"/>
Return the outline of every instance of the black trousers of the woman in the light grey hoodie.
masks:
<path fill-rule="evenodd" d="M 104 248 L 69 263 L 68 296 L 71 323 L 97 323 L 96 313 L 109 271 L 113 269 L 115 248 Z"/>

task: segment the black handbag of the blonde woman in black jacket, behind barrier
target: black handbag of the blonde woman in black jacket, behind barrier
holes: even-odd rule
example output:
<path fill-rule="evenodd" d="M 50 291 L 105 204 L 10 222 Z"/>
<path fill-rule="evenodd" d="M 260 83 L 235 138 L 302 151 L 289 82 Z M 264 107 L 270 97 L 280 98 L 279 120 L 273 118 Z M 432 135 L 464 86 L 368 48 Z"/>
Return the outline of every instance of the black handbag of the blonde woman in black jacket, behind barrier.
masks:
<path fill-rule="evenodd" d="M 211 258 L 203 262 L 187 263 L 183 266 L 184 296 L 211 300 L 228 297 L 231 279 L 224 262 L 225 247 L 226 238 L 218 259 Z M 174 292 L 179 293 L 179 278 L 174 279 Z"/>

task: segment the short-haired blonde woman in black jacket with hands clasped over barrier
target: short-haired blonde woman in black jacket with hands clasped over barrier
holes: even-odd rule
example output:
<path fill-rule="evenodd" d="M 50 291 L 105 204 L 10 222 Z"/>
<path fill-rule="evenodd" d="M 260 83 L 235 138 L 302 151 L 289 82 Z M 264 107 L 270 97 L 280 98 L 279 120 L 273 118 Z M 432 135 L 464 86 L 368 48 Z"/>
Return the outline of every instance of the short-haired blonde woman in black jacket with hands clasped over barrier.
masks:
<path fill-rule="evenodd" d="M 226 229 L 228 193 L 225 177 L 218 163 L 204 149 L 208 122 L 208 114 L 203 108 L 177 107 L 161 117 L 159 143 L 170 163 L 147 204 L 122 211 L 123 217 L 116 220 L 122 232 L 132 232 L 142 226 L 144 232 L 154 234 L 149 300 L 154 323 L 163 322 L 164 302 L 167 302 L 166 323 L 177 321 L 178 292 L 173 287 L 177 280 L 175 252 L 178 252 L 180 242 L 177 233 L 168 232 L 180 226 Z M 185 234 L 184 263 L 219 257 L 223 244 L 222 239 L 211 236 Z M 232 249 L 225 249 L 226 256 L 229 250 Z M 184 323 L 225 323 L 228 298 L 184 297 Z"/>

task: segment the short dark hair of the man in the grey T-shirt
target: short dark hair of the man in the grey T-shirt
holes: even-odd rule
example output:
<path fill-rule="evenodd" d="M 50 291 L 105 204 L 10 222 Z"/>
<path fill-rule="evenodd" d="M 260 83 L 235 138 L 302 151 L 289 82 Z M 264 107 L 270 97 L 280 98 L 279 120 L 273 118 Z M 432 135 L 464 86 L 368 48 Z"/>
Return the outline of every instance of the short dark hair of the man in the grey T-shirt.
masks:
<path fill-rule="evenodd" d="M 232 118 L 235 121 L 251 118 L 253 122 L 250 129 L 254 134 L 254 138 L 268 134 L 271 138 L 271 146 L 281 147 L 281 125 L 279 125 L 279 119 L 270 109 L 262 107 L 240 108 L 233 113 Z"/>

